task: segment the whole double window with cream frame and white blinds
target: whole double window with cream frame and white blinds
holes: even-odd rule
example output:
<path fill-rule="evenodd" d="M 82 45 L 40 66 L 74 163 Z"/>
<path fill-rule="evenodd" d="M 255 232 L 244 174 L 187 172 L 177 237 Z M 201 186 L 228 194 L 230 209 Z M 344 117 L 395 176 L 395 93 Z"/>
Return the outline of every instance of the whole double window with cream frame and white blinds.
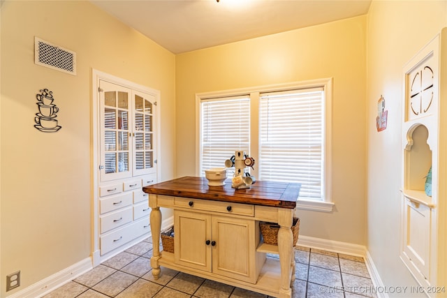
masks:
<path fill-rule="evenodd" d="M 331 80 L 198 94 L 198 174 L 245 151 L 258 180 L 301 184 L 298 208 L 331 211 L 330 96 Z"/>

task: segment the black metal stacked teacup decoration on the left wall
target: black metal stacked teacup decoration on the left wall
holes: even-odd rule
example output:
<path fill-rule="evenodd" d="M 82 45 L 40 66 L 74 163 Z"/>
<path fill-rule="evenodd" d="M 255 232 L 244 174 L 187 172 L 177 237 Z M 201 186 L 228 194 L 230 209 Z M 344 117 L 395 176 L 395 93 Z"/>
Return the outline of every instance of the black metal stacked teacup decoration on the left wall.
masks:
<path fill-rule="evenodd" d="M 54 105 L 53 92 L 48 89 L 41 89 L 40 94 L 36 94 L 38 102 L 39 112 L 36 113 L 34 118 L 34 125 L 39 131 L 44 133 L 55 133 L 61 129 L 61 126 L 57 125 L 57 112 L 59 112 L 59 107 Z"/>

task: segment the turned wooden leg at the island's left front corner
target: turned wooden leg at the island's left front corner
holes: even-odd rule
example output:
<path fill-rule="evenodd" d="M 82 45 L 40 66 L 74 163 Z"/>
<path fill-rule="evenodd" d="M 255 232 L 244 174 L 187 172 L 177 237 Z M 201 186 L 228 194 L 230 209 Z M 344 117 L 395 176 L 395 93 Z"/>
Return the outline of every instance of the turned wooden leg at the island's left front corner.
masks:
<path fill-rule="evenodd" d="M 149 207 L 152 208 L 150 214 L 151 233 L 152 233 L 152 275 L 155 279 L 160 275 L 160 230 L 161 230 L 161 211 L 156 206 L 156 195 L 149 195 Z"/>

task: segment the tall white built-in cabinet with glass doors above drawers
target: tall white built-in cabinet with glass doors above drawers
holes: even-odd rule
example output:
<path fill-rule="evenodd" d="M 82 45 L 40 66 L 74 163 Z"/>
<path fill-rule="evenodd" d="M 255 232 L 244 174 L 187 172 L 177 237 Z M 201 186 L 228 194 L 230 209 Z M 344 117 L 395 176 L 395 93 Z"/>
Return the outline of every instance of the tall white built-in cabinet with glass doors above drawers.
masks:
<path fill-rule="evenodd" d="M 148 237 L 159 91 L 94 71 L 94 264 Z"/>

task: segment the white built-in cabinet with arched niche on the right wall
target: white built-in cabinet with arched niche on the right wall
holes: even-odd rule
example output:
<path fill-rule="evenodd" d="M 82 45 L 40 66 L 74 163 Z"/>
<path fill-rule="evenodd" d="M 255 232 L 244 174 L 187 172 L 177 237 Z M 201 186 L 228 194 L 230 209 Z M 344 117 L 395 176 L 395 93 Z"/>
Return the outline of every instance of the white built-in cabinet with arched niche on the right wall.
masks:
<path fill-rule="evenodd" d="M 400 258 L 429 297 L 445 297 L 447 291 L 446 58 L 443 29 L 403 70 Z"/>

